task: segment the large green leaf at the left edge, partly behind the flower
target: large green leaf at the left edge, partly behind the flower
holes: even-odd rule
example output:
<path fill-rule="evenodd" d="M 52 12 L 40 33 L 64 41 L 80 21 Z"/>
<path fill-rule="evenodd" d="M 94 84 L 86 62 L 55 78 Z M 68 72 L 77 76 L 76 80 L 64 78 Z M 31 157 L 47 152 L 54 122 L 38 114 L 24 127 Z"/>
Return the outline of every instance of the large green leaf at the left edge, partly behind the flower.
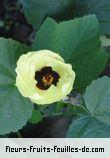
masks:
<path fill-rule="evenodd" d="M 18 131 L 32 114 L 33 104 L 14 85 L 17 59 L 28 50 L 25 45 L 0 38 L 0 135 Z"/>

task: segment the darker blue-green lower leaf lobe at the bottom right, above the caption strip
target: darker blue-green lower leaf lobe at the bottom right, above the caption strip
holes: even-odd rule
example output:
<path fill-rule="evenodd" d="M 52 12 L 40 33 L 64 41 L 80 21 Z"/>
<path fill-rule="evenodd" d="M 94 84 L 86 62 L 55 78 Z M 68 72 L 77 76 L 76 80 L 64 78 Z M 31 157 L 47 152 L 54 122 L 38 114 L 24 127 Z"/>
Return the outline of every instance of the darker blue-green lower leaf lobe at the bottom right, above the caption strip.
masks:
<path fill-rule="evenodd" d="M 109 138 L 110 126 L 90 116 L 73 120 L 66 134 L 67 138 Z"/>

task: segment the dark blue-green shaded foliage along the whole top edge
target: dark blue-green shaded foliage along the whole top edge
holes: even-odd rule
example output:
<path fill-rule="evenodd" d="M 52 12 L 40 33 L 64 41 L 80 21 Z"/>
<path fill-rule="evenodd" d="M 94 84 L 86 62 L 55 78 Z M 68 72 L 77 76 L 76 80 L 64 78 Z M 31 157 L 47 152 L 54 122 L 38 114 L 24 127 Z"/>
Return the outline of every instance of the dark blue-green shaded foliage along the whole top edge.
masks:
<path fill-rule="evenodd" d="M 82 15 L 96 14 L 102 32 L 110 34 L 109 0 L 40 0 L 40 2 L 39 0 L 28 2 L 21 0 L 21 4 L 27 19 L 35 28 L 39 28 L 46 16 L 62 21 Z"/>

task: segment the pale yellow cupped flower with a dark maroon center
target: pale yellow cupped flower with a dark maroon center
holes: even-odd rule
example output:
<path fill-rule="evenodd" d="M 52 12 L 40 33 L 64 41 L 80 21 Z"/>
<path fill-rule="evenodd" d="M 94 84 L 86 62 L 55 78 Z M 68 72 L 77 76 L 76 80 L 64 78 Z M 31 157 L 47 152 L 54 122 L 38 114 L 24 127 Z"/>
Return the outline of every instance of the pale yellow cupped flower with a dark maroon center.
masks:
<path fill-rule="evenodd" d="M 49 50 L 21 55 L 16 73 L 20 93 L 37 104 L 50 104 L 65 98 L 75 80 L 72 66 Z"/>

